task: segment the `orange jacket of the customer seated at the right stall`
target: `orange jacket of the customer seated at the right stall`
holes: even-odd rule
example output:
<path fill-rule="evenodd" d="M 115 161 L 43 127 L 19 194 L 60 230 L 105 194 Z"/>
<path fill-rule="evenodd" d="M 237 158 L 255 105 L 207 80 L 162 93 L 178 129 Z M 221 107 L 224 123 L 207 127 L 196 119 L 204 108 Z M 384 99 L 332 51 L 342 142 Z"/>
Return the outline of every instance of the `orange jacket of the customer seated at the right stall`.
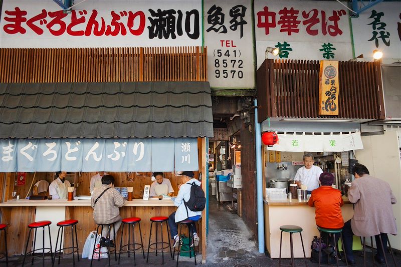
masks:
<path fill-rule="evenodd" d="M 315 207 L 316 224 L 320 227 L 338 229 L 344 226 L 341 206 L 344 200 L 340 190 L 329 185 L 320 186 L 312 191 L 308 205 Z"/>

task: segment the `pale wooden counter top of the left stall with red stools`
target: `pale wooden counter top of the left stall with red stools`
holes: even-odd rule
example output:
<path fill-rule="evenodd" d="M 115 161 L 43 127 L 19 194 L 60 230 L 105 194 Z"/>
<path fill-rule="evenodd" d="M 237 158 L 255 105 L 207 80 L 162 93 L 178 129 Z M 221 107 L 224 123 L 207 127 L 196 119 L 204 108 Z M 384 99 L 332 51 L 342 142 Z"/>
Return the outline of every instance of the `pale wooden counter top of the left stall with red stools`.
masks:
<path fill-rule="evenodd" d="M 29 200 L 29 199 L 13 199 L 7 202 L 0 203 L 0 207 L 28 207 L 28 206 L 90 206 L 90 200 L 72 200 L 66 199 L 52 199 L 52 200 Z M 124 207 L 141 207 L 141 206 L 174 206 L 171 199 L 158 200 L 157 198 L 149 200 L 133 199 L 132 201 L 125 201 Z"/>

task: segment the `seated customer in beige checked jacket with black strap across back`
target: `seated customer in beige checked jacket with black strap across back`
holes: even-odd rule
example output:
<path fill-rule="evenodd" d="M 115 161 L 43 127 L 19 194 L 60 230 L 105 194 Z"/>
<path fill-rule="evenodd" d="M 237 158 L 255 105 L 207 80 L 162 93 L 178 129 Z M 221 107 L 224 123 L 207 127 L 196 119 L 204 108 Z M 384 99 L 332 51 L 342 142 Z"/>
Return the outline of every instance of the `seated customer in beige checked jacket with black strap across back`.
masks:
<path fill-rule="evenodd" d="M 91 206 L 93 208 L 93 219 L 97 224 L 110 224 L 114 222 L 114 231 L 117 233 L 121 225 L 120 209 L 124 205 L 123 196 L 114 189 L 114 177 L 104 175 L 102 177 L 102 186 L 95 189 L 91 197 Z M 106 238 L 108 227 L 103 227 L 100 244 L 114 247 L 114 231 L 111 229 L 110 238 Z"/>

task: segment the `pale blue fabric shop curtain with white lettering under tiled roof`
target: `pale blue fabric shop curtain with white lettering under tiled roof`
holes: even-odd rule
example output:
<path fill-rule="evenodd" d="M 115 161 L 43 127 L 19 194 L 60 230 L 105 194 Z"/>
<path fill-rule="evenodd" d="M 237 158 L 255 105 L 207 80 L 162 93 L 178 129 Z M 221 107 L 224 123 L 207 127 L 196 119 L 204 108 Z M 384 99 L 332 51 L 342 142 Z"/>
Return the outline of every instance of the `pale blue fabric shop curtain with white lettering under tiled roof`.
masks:
<path fill-rule="evenodd" d="M 2 139 L 0 151 L 0 172 L 198 170 L 196 138 Z"/>

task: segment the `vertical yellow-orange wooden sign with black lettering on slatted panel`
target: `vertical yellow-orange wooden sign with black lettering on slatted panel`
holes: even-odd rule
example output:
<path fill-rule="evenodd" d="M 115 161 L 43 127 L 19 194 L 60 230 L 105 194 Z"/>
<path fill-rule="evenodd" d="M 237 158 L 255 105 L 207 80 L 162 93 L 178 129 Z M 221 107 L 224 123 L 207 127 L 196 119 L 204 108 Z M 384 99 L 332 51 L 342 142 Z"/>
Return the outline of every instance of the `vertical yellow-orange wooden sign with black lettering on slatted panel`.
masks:
<path fill-rule="evenodd" d="M 319 115 L 338 115 L 338 61 L 320 61 Z"/>

